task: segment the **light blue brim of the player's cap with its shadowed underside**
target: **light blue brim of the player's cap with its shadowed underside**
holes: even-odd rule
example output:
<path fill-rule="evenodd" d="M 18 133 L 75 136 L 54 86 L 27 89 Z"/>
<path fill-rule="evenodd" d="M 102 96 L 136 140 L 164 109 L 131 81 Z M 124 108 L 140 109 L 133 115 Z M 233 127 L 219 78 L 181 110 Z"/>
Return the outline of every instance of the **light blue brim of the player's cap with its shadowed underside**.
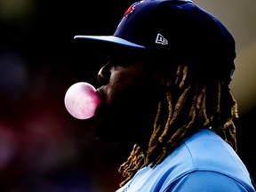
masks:
<path fill-rule="evenodd" d="M 74 39 L 81 40 L 89 51 L 105 55 L 145 50 L 145 46 L 133 44 L 117 36 L 75 36 Z"/>

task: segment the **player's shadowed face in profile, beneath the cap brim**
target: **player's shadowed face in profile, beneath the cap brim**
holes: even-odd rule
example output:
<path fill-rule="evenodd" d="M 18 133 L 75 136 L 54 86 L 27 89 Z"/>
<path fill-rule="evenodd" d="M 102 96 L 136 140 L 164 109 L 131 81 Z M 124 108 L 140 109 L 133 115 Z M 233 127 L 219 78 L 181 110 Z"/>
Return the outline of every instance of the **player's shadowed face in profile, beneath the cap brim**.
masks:
<path fill-rule="evenodd" d="M 142 59 L 116 57 L 100 68 L 100 106 L 96 132 L 100 140 L 147 142 L 153 132 L 159 78 Z"/>

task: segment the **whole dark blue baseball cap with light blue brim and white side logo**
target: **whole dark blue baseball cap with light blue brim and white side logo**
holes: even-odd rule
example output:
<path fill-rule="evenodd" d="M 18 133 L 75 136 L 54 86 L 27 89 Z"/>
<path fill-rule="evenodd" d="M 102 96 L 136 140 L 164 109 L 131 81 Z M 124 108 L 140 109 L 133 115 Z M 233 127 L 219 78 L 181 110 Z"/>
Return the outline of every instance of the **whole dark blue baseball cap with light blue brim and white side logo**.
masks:
<path fill-rule="evenodd" d="M 124 12 L 113 36 L 75 39 L 107 55 L 146 51 L 156 60 L 186 64 L 204 78 L 228 83 L 235 70 L 234 37 L 212 13 L 189 0 L 136 2 Z"/>

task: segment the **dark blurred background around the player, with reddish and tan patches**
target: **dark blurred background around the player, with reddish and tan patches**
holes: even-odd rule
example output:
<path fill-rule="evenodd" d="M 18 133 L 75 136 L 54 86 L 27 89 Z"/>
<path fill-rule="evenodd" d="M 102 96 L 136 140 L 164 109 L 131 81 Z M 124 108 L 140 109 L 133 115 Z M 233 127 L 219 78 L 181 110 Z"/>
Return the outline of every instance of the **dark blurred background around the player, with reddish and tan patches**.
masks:
<path fill-rule="evenodd" d="M 68 114 L 71 84 L 97 86 L 101 62 L 76 35 L 112 35 L 133 1 L 0 0 L 0 191 L 110 192 L 131 148 L 101 143 Z M 240 107 L 238 155 L 256 177 L 256 2 L 195 1 L 236 38 L 231 88 Z M 218 157 L 218 156 L 216 156 Z"/>

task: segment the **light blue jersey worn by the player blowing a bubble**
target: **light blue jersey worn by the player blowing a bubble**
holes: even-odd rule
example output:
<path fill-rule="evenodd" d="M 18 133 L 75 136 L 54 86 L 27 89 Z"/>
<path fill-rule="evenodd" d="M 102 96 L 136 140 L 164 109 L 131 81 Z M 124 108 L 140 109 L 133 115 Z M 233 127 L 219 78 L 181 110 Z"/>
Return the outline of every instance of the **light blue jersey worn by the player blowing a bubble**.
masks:
<path fill-rule="evenodd" d="M 228 143 L 201 129 L 155 168 L 144 167 L 116 192 L 255 191 L 249 172 Z"/>

